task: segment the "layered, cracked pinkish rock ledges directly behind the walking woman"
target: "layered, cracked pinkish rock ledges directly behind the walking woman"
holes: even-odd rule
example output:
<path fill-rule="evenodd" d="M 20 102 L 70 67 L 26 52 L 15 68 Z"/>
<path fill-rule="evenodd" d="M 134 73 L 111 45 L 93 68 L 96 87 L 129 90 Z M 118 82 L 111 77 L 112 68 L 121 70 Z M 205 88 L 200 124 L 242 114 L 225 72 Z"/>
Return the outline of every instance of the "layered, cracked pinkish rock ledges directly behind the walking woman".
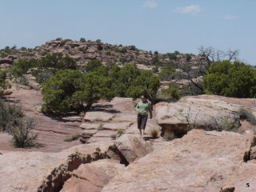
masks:
<path fill-rule="evenodd" d="M 111 102 L 98 102 L 89 112 L 85 121 L 80 125 L 82 137 L 87 143 L 110 140 L 110 136 L 118 135 L 118 130 L 139 137 L 137 128 L 136 102 L 132 98 L 114 98 Z M 154 118 L 146 122 L 146 137 L 150 138 L 151 130 L 161 130 Z M 159 131 L 160 132 L 160 131 Z"/>

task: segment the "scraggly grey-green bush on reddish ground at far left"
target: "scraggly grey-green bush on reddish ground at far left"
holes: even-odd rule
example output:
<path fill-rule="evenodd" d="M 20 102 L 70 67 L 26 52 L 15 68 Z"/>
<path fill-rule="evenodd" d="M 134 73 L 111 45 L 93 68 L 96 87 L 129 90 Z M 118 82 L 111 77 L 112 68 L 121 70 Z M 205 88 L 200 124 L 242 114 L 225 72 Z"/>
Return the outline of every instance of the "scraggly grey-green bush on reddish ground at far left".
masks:
<path fill-rule="evenodd" d="M 31 132 L 34 126 L 33 119 L 20 119 L 15 126 L 8 130 L 8 133 L 13 136 L 14 146 L 21 148 L 38 146 L 38 143 L 34 141 L 38 135 Z"/>

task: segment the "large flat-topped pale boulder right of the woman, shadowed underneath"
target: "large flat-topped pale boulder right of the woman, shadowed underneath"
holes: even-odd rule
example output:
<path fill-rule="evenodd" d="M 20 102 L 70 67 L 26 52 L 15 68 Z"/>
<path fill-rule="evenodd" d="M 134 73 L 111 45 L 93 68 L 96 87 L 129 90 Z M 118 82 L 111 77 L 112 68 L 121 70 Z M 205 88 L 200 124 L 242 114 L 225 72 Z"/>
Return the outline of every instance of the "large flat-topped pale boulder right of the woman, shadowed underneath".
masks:
<path fill-rule="evenodd" d="M 163 132 L 186 134 L 194 128 L 214 130 L 223 122 L 238 120 L 242 105 L 217 99 L 185 97 L 178 102 L 160 102 L 155 106 L 156 120 Z"/>

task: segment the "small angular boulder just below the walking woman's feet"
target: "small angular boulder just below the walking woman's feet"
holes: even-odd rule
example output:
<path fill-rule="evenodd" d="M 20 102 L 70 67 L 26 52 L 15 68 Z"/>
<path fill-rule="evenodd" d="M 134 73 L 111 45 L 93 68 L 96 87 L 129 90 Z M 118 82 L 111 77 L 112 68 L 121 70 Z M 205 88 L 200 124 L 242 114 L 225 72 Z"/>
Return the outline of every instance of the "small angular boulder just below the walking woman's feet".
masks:
<path fill-rule="evenodd" d="M 144 141 L 142 138 L 135 138 L 130 134 L 123 134 L 114 144 L 127 162 L 134 162 L 153 151 L 153 147 L 149 142 Z"/>

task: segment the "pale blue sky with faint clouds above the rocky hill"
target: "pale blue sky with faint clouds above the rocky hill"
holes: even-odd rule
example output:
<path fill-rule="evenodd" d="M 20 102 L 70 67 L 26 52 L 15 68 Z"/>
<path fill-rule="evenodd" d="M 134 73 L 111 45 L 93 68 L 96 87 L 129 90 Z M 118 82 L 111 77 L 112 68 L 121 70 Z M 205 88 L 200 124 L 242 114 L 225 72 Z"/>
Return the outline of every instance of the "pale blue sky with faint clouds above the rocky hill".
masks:
<path fill-rule="evenodd" d="M 161 53 L 240 50 L 256 65 L 255 0 L 0 0 L 0 8 L 0 48 L 99 38 Z"/>

